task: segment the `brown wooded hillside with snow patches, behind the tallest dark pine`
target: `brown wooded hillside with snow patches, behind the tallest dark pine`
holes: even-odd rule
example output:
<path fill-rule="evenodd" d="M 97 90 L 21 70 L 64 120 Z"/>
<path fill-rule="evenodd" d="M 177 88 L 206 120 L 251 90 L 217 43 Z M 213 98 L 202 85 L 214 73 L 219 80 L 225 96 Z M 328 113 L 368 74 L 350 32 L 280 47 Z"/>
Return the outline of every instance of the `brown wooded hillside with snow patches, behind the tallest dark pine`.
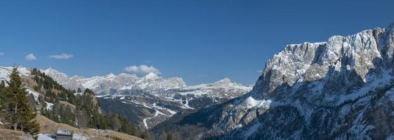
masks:
<path fill-rule="evenodd" d="M 2 80 L 9 80 L 8 73 L 11 73 L 11 69 L 12 67 L 0 68 L 0 76 L 4 76 L 1 77 Z M 42 114 L 37 117 L 38 121 L 41 121 L 40 125 L 50 124 L 41 126 L 44 130 L 55 126 L 48 121 L 51 120 L 59 124 L 67 124 L 72 130 L 78 127 L 79 129 L 105 130 L 106 134 L 117 134 L 114 132 L 117 131 L 141 136 L 138 128 L 129 123 L 127 118 L 117 113 L 103 113 L 100 102 L 91 90 L 86 89 L 77 94 L 65 89 L 37 69 L 20 68 L 20 78 L 23 86 L 21 90 L 26 90 L 27 102 L 32 111 Z M 7 126 L 4 125 L 4 127 Z M 120 133 L 117 135 L 122 136 Z"/>

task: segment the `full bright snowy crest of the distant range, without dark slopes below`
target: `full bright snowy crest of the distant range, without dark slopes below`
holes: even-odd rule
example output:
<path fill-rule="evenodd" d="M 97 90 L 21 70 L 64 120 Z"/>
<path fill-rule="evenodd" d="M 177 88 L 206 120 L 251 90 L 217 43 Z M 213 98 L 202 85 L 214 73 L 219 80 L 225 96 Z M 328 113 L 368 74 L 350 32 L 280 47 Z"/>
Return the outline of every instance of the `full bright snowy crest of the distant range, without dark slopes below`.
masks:
<path fill-rule="evenodd" d="M 209 94 L 210 96 L 233 98 L 251 90 L 251 87 L 232 83 L 229 78 L 223 78 L 215 83 L 186 85 L 182 78 L 162 78 L 156 73 L 148 73 L 143 77 L 129 73 L 119 73 L 118 75 L 110 73 L 107 76 L 93 76 L 91 78 L 81 78 L 79 76 L 69 78 L 65 73 L 55 69 L 49 68 L 41 71 L 44 71 L 46 75 L 51 76 L 68 89 L 76 90 L 78 87 L 81 89 L 89 88 L 93 92 L 96 92 L 98 97 L 109 95 L 117 95 L 119 97 L 125 92 L 139 90 L 156 94 L 183 91 L 182 94 L 193 94 L 196 96 Z M 217 94 L 218 91 L 216 90 L 221 90 L 223 94 Z"/>

